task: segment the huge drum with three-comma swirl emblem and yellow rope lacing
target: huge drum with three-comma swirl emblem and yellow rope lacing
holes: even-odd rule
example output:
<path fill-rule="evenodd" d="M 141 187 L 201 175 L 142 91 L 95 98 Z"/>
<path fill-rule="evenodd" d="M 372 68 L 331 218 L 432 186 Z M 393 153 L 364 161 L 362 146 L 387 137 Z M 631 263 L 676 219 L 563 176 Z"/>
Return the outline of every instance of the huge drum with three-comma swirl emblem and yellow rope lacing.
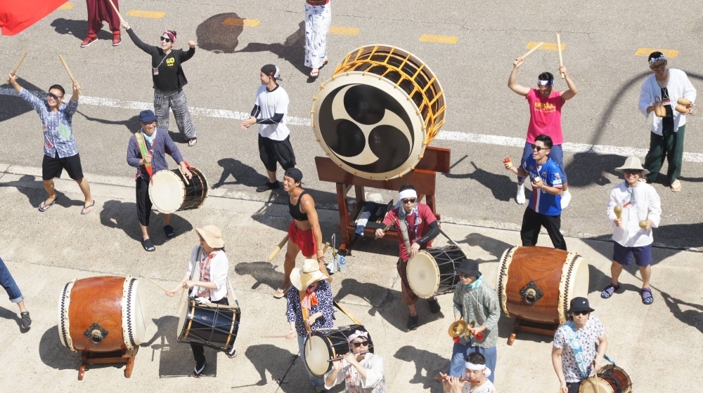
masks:
<path fill-rule="evenodd" d="M 313 98 L 312 127 L 325 153 L 371 180 L 411 171 L 444 124 L 437 76 L 401 48 L 363 46 L 347 54 Z"/>

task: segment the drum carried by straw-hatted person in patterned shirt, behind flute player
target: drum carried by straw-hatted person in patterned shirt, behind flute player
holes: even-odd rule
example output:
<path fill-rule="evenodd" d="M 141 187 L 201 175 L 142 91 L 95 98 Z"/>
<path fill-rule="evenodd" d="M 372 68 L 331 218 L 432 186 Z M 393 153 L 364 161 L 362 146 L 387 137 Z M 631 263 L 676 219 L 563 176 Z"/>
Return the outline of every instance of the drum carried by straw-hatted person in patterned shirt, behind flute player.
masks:
<path fill-rule="evenodd" d="M 349 348 L 350 335 L 355 331 L 366 331 L 363 325 L 340 326 L 338 328 L 318 329 L 305 339 L 305 363 L 313 375 L 322 378 L 332 370 L 330 359 L 352 352 Z M 368 334 L 368 352 L 373 354 L 373 341 Z"/>

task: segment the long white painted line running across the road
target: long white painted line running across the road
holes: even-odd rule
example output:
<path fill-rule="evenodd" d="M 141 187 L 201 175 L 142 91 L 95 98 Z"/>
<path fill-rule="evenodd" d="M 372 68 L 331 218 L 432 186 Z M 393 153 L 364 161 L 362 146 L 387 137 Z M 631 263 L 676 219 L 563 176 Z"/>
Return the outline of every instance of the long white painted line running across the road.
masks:
<path fill-rule="evenodd" d="M 44 98 L 44 92 L 32 91 L 40 98 Z M 0 88 L 0 95 L 17 95 L 12 88 Z M 94 105 L 98 107 L 112 107 L 122 109 L 144 110 L 153 109 L 154 105 L 151 102 L 137 102 L 125 100 L 112 100 L 110 98 L 87 97 L 81 96 L 80 102 L 82 105 Z M 249 117 L 247 112 L 237 112 L 226 109 L 207 109 L 191 107 L 191 114 L 196 116 L 214 117 L 218 119 L 233 119 L 243 120 Z M 287 116 L 286 124 L 291 126 L 310 126 L 311 121 L 305 117 Z M 500 135 L 484 135 L 475 133 L 458 133 L 456 131 L 441 131 L 436 138 L 437 140 L 453 140 L 456 142 L 479 143 L 482 145 L 498 145 L 510 147 L 524 147 L 525 140 L 523 138 L 513 138 Z M 593 153 L 593 154 L 614 154 L 617 156 L 640 156 L 647 155 L 647 149 L 637 149 L 635 147 L 620 147 L 609 145 L 588 145 L 585 143 L 565 142 L 562 145 L 565 152 L 572 153 Z M 683 161 L 703 163 L 702 153 L 683 153 Z"/>

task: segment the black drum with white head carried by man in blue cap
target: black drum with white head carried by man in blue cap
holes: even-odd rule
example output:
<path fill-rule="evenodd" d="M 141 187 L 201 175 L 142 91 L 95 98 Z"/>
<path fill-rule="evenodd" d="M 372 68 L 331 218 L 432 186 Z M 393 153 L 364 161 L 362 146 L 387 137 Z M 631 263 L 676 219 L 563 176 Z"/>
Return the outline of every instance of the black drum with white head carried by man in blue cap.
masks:
<path fill-rule="evenodd" d="M 199 208 L 207 199 L 207 179 L 197 168 L 188 168 L 193 178 L 186 182 L 181 171 L 164 169 L 154 173 L 149 198 L 157 211 L 165 214 Z"/>

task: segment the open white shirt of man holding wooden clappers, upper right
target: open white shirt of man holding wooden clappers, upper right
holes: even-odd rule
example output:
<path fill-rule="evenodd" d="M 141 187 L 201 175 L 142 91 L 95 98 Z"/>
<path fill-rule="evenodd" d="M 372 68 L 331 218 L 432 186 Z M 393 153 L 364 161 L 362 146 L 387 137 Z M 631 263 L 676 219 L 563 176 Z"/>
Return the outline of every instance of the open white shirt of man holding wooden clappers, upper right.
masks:
<path fill-rule="evenodd" d="M 669 83 L 666 84 L 666 90 L 669 91 L 671 99 L 671 110 L 673 111 L 673 132 L 678 131 L 678 128 L 686 124 L 685 114 L 676 112 L 676 101 L 683 97 L 690 102 L 696 100 L 696 89 L 688 80 L 686 73 L 681 69 L 669 68 Z M 654 74 L 645 79 L 640 89 L 640 112 L 647 118 L 650 114 L 647 113 L 647 107 L 654 105 L 654 102 L 662 100 L 662 88 L 657 83 L 657 77 Z M 662 118 L 654 115 L 652 112 L 652 133 L 662 135 Z"/>

